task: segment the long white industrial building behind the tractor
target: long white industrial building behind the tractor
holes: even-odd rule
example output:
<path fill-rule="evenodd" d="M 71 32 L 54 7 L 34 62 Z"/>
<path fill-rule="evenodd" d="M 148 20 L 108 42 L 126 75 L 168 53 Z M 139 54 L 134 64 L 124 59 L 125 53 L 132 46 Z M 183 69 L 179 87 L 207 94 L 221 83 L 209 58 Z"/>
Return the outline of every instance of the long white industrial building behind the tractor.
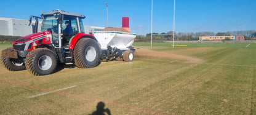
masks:
<path fill-rule="evenodd" d="M 0 35 L 4 36 L 26 36 L 33 33 L 34 23 L 32 21 L 29 25 L 28 20 L 15 19 L 15 18 L 4 18 L 0 17 Z M 38 31 L 41 31 L 42 22 L 39 21 Z M 101 31 L 104 27 L 98 26 L 86 26 L 84 25 L 84 32 L 86 34 L 94 33 L 94 31 Z"/>

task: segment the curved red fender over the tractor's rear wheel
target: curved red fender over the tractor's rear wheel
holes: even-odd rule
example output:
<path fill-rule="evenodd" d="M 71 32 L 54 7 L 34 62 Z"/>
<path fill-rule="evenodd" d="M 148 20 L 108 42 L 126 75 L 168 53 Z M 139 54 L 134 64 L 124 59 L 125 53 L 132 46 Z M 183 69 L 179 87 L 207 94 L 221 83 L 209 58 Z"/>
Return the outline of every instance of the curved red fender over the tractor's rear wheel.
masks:
<path fill-rule="evenodd" d="M 76 36 L 74 36 L 73 39 L 71 39 L 70 47 L 68 49 L 74 49 L 74 46 L 81 38 L 91 38 L 91 39 L 94 39 L 96 42 L 98 42 L 97 39 L 94 37 L 94 34 L 79 33 Z"/>

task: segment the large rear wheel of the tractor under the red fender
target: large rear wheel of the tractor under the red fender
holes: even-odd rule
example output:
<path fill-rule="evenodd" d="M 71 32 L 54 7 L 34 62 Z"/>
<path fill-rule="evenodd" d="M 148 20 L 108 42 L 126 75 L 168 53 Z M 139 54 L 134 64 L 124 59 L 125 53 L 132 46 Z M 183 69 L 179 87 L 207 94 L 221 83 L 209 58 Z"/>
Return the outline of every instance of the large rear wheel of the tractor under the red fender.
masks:
<path fill-rule="evenodd" d="M 92 68 L 100 63 L 100 47 L 91 38 L 82 38 L 74 47 L 74 65 L 79 68 Z"/>

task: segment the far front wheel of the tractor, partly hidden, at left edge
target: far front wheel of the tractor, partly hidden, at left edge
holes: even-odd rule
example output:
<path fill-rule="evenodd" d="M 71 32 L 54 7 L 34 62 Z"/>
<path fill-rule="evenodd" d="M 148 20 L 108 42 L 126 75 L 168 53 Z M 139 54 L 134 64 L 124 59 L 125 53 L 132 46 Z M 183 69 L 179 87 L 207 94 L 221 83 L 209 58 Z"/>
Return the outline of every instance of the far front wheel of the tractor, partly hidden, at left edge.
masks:
<path fill-rule="evenodd" d="M 21 71 L 26 69 L 24 63 L 23 63 L 23 58 L 6 58 L 6 57 L 0 57 L 1 62 L 8 69 L 9 71 Z"/>

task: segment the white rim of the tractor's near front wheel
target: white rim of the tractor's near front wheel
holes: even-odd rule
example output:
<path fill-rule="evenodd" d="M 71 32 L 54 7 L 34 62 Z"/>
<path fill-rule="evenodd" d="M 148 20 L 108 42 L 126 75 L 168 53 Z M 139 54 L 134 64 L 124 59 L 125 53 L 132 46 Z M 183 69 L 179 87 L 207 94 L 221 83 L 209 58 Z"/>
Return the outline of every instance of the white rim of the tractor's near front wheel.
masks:
<path fill-rule="evenodd" d="M 50 66 L 52 66 L 52 59 L 49 56 L 44 55 L 41 58 L 39 58 L 38 67 L 40 69 L 47 70 L 50 68 Z"/>

